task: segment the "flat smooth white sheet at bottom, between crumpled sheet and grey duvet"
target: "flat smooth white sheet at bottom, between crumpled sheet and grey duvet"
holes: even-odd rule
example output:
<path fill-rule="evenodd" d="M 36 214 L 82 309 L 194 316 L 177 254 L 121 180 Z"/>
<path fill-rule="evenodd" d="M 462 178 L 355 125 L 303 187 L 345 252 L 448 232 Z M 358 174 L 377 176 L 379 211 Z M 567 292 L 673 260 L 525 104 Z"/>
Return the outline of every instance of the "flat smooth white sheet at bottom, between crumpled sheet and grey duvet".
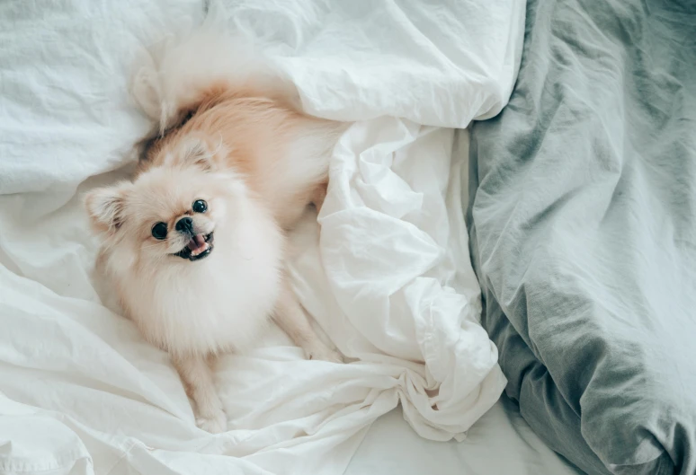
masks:
<path fill-rule="evenodd" d="M 505 396 L 478 419 L 462 442 L 424 440 L 401 411 L 377 419 L 345 475 L 583 475 L 551 451 Z"/>

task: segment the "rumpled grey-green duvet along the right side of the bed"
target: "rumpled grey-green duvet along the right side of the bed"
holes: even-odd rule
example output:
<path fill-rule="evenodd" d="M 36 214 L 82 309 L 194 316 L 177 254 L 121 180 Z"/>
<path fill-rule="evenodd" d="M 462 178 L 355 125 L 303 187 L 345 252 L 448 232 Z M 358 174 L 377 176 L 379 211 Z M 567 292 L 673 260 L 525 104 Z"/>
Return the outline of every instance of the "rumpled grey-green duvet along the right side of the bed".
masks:
<path fill-rule="evenodd" d="M 531 2 L 513 97 L 472 132 L 506 391 L 591 473 L 696 473 L 695 31 L 687 2 Z"/>

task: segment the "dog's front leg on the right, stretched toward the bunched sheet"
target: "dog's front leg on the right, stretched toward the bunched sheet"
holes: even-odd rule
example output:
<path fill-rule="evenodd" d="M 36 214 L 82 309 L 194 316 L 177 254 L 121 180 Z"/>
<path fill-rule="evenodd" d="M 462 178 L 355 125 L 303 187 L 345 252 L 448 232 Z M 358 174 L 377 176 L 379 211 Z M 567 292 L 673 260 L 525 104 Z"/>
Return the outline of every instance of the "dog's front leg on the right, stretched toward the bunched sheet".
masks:
<path fill-rule="evenodd" d="M 276 303 L 273 318 L 281 329 L 290 336 L 290 339 L 305 351 L 308 359 L 343 363 L 343 357 L 338 352 L 327 347 L 314 329 L 312 329 L 312 325 L 299 304 L 297 296 L 292 292 L 287 282 L 282 284 L 281 295 L 278 298 L 278 303 Z"/>

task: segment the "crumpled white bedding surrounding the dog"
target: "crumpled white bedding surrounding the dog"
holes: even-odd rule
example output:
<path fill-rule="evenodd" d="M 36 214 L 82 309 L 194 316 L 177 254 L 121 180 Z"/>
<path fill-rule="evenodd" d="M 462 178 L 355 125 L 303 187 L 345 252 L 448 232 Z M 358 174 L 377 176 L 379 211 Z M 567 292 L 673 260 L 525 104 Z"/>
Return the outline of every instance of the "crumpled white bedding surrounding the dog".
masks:
<path fill-rule="evenodd" d="M 504 106 L 523 3 L 236 1 L 231 27 L 268 45 L 307 110 L 358 120 L 291 268 L 360 361 L 305 361 L 274 330 L 220 364 L 228 433 L 195 427 L 166 355 L 99 297 L 79 194 L 147 131 L 127 97 L 136 51 L 202 6 L 0 4 L 0 472 L 335 475 L 399 401 L 418 434 L 460 439 L 503 390 L 463 224 L 468 136 L 448 128 Z"/>

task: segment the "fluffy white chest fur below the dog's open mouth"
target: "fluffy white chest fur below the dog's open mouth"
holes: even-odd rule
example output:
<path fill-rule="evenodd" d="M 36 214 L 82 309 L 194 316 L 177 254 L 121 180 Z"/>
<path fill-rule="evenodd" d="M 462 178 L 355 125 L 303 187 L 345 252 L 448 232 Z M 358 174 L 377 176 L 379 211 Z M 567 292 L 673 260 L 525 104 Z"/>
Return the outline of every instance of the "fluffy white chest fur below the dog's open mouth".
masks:
<path fill-rule="evenodd" d="M 180 261 L 154 277 L 123 276 L 121 299 L 130 318 L 148 341 L 173 355 L 253 346 L 268 326 L 281 285 L 280 242 L 264 241 L 241 247 L 220 242 L 201 261 L 172 256 Z"/>

